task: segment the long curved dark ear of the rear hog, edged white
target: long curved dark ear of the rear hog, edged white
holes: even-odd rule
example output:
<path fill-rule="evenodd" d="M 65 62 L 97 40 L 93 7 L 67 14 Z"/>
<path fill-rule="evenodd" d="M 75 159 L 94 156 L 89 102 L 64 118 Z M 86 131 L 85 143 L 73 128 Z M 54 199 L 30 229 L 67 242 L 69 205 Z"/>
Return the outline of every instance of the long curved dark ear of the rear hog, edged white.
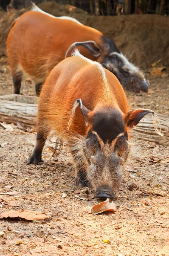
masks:
<path fill-rule="evenodd" d="M 65 54 L 65 58 L 72 52 L 72 50 L 74 48 L 76 48 L 77 46 L 84 46 L 86 47 L 88 50 L 90 50 L 90 52 L 96 56 L 96 57 L 99 57 L 100 56 L 100 48 L 99 48 L 99 45 L 96 44 L 95 41 L 85 41 L 85 42 L 76 42 L 76 43 L 73 43 L 72 45 L 70 45 L 70 47 L 68 48 L 66 54 Z"/>

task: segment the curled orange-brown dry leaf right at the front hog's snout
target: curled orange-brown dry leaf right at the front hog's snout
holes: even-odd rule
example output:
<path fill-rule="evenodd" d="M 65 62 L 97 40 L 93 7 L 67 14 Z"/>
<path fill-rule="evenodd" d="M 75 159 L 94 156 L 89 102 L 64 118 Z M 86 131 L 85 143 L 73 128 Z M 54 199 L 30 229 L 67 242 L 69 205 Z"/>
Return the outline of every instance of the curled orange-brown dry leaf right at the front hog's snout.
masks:
<path fill-rule="evenodd" d="M 114 212 L 115 211 L 115 203 L 111 202 L 109 203 L 109 198 L 106 199 L 106 201 L 101 202 L 100 204 L 94 205 L 90 213 L 93 213 L 94 215 L 99 214 L 101 212 Z"/>

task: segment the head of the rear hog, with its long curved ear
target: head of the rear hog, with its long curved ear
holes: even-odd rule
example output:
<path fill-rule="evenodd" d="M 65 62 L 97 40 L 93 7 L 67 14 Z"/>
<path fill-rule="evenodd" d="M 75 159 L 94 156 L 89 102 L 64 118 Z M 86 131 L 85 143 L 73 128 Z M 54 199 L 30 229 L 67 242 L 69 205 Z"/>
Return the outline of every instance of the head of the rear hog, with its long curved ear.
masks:
<path fill-rule="evenodd" d="M 106 40 L 104 46 L 96 44 L 94 41 L 73 43 L 67 50 L 65 57 L 70 55 L 74 48 L 84 46 L 96 57 L 97 62 L 100 62 L 104 68 L 118 78 L 125 90 L 135 93 L 139 93 L 140 91 L 147 93 L 149 90 L 149 81 L 146 81 L 144 74 L 118 51 L 113 41 L 108 38 Z"/>

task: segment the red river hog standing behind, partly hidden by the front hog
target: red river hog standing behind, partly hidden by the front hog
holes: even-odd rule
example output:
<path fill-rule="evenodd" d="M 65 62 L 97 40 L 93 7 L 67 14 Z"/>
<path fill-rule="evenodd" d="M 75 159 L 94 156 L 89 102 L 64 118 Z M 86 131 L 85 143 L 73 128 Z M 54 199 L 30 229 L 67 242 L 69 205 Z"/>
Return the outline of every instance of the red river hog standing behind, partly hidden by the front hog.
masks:
<path fill-rule="evenodd" d="M 148 92 L 144 74 L 119 52 L 101 32 L 71 17 L 54 17 L 36 5 L 14 20 L 7 39 L 7 52 L 14 93 L 20 93 L 23 73 L 35 82 L 37 95 L 50 71 L 73 49 L 98 61 L 118 78 L 124 89 Z"/>

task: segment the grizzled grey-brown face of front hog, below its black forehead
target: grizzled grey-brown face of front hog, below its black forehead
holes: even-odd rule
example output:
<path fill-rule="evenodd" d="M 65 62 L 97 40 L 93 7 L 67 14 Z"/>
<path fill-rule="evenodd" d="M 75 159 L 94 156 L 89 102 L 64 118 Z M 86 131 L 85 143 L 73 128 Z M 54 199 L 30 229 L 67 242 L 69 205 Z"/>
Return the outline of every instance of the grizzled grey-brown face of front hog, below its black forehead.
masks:
<path fill-rule="evenodd" d="M 122 133 L 111 143 L 104 143 L 99 134 L 93 133 L 86 142 L 90 165 L 87 176 L 95 197 L 113 198 L 122 181 L 121 166 L 130 151 L 127 137 Z"/>

